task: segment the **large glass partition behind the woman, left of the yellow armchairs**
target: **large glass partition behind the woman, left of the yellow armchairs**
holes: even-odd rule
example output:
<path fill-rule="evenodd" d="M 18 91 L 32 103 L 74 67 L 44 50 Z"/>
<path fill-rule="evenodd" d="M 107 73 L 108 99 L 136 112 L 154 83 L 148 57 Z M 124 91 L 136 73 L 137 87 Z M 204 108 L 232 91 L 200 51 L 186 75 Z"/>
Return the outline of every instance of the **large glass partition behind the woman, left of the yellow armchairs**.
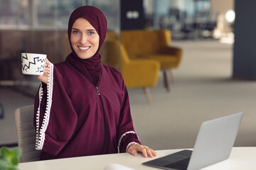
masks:
<path fill-rule="evenodd" d="M 0 145 L 16 145 L 14 111 L 33 104 L 40 83 L 21 73 L 21 52 L 42 53 L 50 62 L 63 62 L 70 53 L 68 18 L 83 5 L 100 8 L 108 30 L 118 35 L 118 0 L 0 0 Z M 107 61 L 102 56 L 102 62 Z"/>

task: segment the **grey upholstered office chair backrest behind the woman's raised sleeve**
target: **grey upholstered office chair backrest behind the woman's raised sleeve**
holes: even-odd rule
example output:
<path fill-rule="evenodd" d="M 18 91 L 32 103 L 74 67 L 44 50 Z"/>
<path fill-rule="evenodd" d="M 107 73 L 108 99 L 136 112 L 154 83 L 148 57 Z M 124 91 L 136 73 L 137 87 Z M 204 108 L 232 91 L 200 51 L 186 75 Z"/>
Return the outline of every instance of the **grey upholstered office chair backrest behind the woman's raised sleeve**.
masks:
<path fill-rule="evenodd" d="M 36 130 L 33 125 L 34 106 L 23 106 L 15 111 L 18 147 L 22 149 L 20 162 L 40 160 L 41 151 L 36 150 Z"/>

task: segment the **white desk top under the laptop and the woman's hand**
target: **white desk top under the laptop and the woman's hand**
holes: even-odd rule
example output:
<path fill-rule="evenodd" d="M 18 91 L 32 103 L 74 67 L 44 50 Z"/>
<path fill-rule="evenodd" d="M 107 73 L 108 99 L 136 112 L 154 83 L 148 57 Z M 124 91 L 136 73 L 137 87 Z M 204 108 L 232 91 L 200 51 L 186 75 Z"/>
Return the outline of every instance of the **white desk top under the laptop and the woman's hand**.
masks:
<path fill-rule="evenodd" d="M 157 157 L 163 157 L 166 154 L 171 154 L 178 152 L 181 149 L 169 149 L 169 150 L 159 150 L 157 151 Z M 142 162 L 151 160 L 151 158 L 144 158 L 142 154 L 138 154 L 137 157 L 131 154 L 105 154 L 90 157 L 75 157 L 68 159 L 54 159 L 48 161 L 39 162 L 26 162 L 21 163 L 18 166 L 20 170 L 82 170 L 82 169 L 92 169 L 92 170 L 103 170 L 107 164 L 117 163 L 124 166 L 128 166 L 132 169 L 155 169 L 149 166 L 142 165 Z M 216 170 L 216 169 L 256 169 L 256 147 L 234 147 L 232 149 L 229 159 L 218 164 L 213 164 L 204 168 L 203 170 Z"/>

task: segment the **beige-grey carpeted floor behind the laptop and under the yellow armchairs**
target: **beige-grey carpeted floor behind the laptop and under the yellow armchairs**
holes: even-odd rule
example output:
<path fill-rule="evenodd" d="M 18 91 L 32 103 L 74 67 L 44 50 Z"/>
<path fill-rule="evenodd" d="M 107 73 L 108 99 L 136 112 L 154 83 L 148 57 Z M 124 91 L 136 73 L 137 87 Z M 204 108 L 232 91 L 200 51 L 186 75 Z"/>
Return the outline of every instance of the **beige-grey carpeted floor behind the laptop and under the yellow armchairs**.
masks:
<path fill-rule="evenodd" d="M 174 69 L 171 92 L 150 88 L 152 103 L 142 89 L 129 89 L 134 125 L 144 144 L 154 149 L 193 147 L 204 120 L 244 111 L 235 146 L 256 146 L 256 81 L 231 79 L 233 45 L 216 40 L 178 41 L 183 48 Z"/>

